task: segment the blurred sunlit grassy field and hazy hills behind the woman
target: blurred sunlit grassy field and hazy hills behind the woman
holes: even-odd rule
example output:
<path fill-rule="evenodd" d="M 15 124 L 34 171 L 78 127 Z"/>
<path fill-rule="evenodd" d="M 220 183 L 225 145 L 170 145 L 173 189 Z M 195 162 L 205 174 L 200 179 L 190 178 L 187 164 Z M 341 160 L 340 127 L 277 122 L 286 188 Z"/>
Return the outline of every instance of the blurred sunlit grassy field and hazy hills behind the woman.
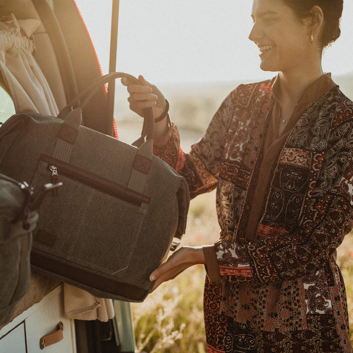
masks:
<path fill-rule="evenodd" d="M 353 74 L 334 77 L 341 90 L 353 98 Z M 202 137 L 223 99 L 239 83 L 163 84 L 158 88 L 170 103 L 170 116 L 177 124 L 181 148 Z M 131 143 L 139 136 L 142 119 L 131 113 L 125 89 L 117 91 L 115 117 L 119 138 Z M 213 244 L 219 235 L 215 191 L 200 195 L 190 203 L 186 234 L 181 245 Z M 339 264 L 346 284 L 351 341 L 353 343 L 353 234 L 346 236 L 338 249 Z M 144 303 L 133 303 L 137 353 L 204 353 L 203 265 L 193 266 L 173 281 L 163 283 Z"/>

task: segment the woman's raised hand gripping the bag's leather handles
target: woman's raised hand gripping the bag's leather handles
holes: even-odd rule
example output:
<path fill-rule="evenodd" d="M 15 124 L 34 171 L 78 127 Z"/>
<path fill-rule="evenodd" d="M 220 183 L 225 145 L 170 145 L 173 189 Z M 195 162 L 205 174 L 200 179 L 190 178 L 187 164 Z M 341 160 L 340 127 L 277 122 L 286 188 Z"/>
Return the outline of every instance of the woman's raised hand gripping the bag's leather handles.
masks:
<path fill-rule="evenodd" d="M 142 85 L 132 84 L 126 77 L 121 79 L 121 83 L 127 87 L 130 96 L 127 98 L 130 109 L 143 117 L 143 109 L 153 107 L 155 119 L 158 119 L 166 108 L 166 98 L 155 86 L 147 82 L 142 75 L 138 77 Z"/>

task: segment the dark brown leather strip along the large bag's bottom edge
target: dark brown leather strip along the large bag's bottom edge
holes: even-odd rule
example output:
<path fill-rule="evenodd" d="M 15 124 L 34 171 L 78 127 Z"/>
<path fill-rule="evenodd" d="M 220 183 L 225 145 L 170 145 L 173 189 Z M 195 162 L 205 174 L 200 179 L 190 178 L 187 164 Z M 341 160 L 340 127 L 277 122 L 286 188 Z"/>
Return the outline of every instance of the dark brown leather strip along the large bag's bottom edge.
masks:
<path fill-rule="evenodd" d="M 100 291 L 121 295 L 132 300 L 142 300 L 148 291 L 145 289 L 113 281 L 77 267 L 62 263 L 31 251 L 31 264 L 56 275 L 66 277 Z"/>

